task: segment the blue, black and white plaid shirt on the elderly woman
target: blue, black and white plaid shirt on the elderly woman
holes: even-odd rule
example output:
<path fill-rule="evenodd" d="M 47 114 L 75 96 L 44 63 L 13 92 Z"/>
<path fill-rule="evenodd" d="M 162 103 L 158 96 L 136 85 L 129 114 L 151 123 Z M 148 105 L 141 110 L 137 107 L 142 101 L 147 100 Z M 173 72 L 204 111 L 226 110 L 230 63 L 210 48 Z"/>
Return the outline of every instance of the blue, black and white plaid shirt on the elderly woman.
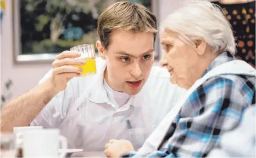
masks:
<path fill-rule="evenodd" d="M 230 52 L 223 52 L 202 77 L 232 60 L 237 59 Z M 170 127 L 158 151 L 142 155 L 129 151 L 121 157 L 205 157 L 218 147 L 222 133 L 238 126 L 244 109 L 254 103 L 255 77 L 235 74 L 212 77 L 191 93 L 172 124 L 166 125 Z"/>

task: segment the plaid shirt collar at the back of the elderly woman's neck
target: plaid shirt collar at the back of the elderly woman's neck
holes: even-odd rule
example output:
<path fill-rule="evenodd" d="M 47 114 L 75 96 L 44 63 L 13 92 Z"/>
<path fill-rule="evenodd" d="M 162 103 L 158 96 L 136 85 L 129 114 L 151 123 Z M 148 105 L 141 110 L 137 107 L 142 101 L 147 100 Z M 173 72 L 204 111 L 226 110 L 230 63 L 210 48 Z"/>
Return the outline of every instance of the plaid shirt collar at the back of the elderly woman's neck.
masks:
<path fill-rule="evenodd" d="M 232 61 L 232 60 L 237 60 L 237 58 L 235 56 L 233 56 L 229 51 L 222 52 L 220 55 L 218 55 L 214 59 L 214 61 L 212 63 L 210 63 L 210 65 L 208 66 L 206 71 L 202 74 L 202 77 L 205 74 L 207 74 L 210 70 L 212 70 L 213 68 L 221 65 L 222 63 L 229 62 L 229 61 Z"/>

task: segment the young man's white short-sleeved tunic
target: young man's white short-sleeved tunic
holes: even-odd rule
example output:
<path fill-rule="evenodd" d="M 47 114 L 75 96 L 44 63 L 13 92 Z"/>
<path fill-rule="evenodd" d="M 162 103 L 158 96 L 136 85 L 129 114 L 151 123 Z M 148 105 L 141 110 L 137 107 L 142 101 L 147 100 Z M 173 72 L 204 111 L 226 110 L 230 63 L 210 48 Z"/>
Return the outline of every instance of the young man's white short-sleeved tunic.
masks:
<path fill-rule="evenodd" d="M 30 125 L 59 128 L 69 148 L 103 151 L 109 139 L 128 139 L 138 149 L 186 92 L 165 68 L 153 67 L 140 93 L 115 110 L 103 85 L 105 61 L 97 58 L 96 66 L 96 75 L 71 79 Z"/>

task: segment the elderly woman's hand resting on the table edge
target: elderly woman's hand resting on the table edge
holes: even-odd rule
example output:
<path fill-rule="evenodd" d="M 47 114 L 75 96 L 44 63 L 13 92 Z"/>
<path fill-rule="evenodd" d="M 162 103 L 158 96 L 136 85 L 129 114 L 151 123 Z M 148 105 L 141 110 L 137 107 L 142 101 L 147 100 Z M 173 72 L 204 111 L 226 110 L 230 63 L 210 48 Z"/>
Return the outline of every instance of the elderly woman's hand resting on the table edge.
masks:
<path fill-rule="evenodd" d="M 134 151 L 131 142 L 127 140 L 116 140 L 111 139 L 107 144 L 105 144 L 105 155 L 108 157 L 120 157 L 126 151 Z"/>

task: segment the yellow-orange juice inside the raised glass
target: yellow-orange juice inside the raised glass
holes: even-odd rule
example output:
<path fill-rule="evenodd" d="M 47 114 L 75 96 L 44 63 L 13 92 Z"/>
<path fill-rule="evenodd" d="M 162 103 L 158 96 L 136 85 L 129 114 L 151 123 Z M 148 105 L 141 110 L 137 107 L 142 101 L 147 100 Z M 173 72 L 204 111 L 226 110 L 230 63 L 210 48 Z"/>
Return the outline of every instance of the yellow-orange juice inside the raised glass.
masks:
<path fill-rule="evenodd" d="M 95 58 L 84 58 L 85 65 L 76 65 L 76 67 L 82 68 L 84 71 L 81 76 L 91 75 L 96 73 L 96 61 Z"/>

